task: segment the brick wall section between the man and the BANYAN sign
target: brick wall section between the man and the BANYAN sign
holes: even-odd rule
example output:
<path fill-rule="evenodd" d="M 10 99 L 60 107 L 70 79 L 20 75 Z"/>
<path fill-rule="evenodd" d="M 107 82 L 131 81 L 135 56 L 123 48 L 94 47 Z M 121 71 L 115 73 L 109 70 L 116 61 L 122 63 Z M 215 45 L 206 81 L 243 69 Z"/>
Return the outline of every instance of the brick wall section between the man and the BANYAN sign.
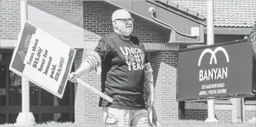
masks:
<path fill-rule="evenodd" d="M 177 54 L 172 51 L 151 53 L 151 66 L 154 71 L 155 109 L 158 119 L 169 121 L 178 119 L 176 102 Z"/>

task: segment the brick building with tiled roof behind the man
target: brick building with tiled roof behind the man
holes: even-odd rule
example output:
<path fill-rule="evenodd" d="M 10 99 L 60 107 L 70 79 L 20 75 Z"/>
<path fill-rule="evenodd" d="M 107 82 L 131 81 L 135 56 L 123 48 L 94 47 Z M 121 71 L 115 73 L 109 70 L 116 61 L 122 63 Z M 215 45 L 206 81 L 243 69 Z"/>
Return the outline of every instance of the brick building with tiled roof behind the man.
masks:
<path fill-rule="evenodd" d="M 244 39 L 255 21 L 254 1 L 214 2 L 214 41 Z M 229 11 L 222 10 L 226 8 Z M 243 5 L 241 8 L 238 5 Z M 196 38 L 185 37 L 173 28 L 155 21 L 148 8 L 154 7 L 160 21 L 171 24 L 178 31 L 191 34 L 191 27 L 198 28 Z M 204 7 L 204 8 L 201 8 Z M 206 2 L 201 1 L 28 1 L 28 21 L 52 34 L 77 50 L 73 70 L 77 69 L 86 55 L 94 49 L 98 40 L 113 31 L 111 13 L 125 8 L 135 18 L 133 35 L 145 44 L 154 71 L 156 92 L 155 107 L 160 121 L 181 119 L 178 115 L 181 103 L 176 101 L 177 50 L 206 44 Z M 228 8 L 232 8 L 228 9 Z M 243 9 L 244 11 L 239 11 Z M 248 11 L 246 11 L 248 10 Z M 227 12 L 222 14 L 221 12 Z M 235 18 L 244 15 L 240 20 Z M 21 78 L 8 70 L 13 45 L 20 31 L 19 1 L 0 0 L 0 124 L 15 122 L 21 112 Z M 228 16 L 227 16 L 228 15 Z M 216 18 L 217 17 L 217 18 Z M 227 18 L 223 21 L 223 18 Z M 234 18 L 234 19 L 233 19 Z M 232 22 L 234 21 L 234 22 Z M 59 49 L 61 50 L 61 49 Z M 82 80 L 100 90 L 100 67 L 97 72 L 82 76 Z M 145 93 L 147 94 L 147 93 Z M 84 86 L 68 83 L 63 99 L 58 99 L 31 84 L 31 112 L 36 122 L 72 121 L 99 122 L 102 119 L 99 97 Z M 13 101 L 17 100 L 17 101 Z M 231 121 L 231 99 L 215 101 L 216 116 L 220 121 Z M 256 115 L 254 98 L 243 99 L 243 120 Z M 185 103 L 185 119 L 207 118 L 207 103 Z"/>

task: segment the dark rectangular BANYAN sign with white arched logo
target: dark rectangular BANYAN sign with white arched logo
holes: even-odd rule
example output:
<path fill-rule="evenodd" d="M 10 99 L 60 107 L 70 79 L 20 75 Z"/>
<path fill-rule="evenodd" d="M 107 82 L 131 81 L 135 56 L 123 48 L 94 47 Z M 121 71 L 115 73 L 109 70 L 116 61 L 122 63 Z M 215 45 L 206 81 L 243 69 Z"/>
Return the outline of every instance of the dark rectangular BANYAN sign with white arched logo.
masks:
<path fill-rule="evenodd" d="M 178 51 L 178 100 L 253 96 L 254 57 L 247 40 Z"/>

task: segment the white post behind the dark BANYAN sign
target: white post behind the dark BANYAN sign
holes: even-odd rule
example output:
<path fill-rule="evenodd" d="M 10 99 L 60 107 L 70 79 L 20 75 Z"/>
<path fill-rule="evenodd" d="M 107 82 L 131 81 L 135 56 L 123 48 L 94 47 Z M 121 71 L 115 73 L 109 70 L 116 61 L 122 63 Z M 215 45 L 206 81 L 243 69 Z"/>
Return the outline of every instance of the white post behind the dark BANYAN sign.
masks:
<path fill-rule="evenodd" d="M 214 44 L 214 1 L 207 1 L 207 44 Z M 208 119 L 205 122 L 218 122 L 214 113 L 214 99 L 208 99 Z"/>

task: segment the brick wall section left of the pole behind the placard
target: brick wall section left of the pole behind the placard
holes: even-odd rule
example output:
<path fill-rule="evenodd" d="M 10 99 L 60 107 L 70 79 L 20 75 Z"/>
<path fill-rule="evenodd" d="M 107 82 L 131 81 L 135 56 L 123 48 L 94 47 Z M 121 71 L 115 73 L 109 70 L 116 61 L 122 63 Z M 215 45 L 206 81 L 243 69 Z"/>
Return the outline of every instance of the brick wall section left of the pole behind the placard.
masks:
<path fill-rule="evenodd" d="M 5 40 L 16 40 L 20 31 L 19 1 L 0 1 L 0 37 Z"/>

